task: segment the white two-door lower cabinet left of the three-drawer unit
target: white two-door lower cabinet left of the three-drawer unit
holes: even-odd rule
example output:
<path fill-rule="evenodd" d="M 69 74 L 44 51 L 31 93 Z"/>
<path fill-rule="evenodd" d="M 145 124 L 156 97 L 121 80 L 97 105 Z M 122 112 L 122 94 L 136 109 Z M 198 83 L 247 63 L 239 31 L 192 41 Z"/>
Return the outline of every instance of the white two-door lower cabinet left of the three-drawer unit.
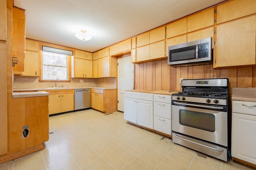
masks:
<path fill-rule="evenodd" d="M 124 92 L 124 119 L 154 129 L 153 94 Z"/>

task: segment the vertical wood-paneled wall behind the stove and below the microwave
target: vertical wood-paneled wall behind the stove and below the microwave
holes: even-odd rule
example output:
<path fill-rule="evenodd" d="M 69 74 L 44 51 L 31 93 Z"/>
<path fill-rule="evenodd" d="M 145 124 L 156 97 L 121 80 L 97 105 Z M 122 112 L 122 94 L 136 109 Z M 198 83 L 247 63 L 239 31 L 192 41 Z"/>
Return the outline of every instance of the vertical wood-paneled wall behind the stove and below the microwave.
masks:
<path fill-rule="evenodd" d="M 199 66 L 172 67 L 167 59 L 135 64 L 135 87 L 144 90 L 181 91 L 180 78 L 228 78 L 229 92 L 232 88 L 256 88 L 256 67 L 234 67 L 213 69 L 212 64 Z"/>

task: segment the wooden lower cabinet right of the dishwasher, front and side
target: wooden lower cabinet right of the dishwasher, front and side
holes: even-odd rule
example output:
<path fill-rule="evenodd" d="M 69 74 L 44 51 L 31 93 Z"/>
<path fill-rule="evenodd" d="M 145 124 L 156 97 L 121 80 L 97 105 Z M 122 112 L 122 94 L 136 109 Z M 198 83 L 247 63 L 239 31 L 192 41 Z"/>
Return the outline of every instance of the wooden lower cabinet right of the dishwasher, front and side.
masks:
<path fill-rule="evenodd" d="M 102 113 L 117 111 L 116 89 L 92 89 L 91 107 Z"/>

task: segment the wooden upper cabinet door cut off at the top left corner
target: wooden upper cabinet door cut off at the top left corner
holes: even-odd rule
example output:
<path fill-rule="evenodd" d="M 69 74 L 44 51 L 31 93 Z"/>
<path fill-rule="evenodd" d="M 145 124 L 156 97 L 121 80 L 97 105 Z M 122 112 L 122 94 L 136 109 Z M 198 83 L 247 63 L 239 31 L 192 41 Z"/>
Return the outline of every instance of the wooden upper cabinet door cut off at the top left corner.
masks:
<path fill-rule="evenodd" d="M 7 31 L 6 31 L 6 0 L 0 1 L 0 41 L 7 40 Z M 1 153 L 1 152 L 0 152 Z"/>

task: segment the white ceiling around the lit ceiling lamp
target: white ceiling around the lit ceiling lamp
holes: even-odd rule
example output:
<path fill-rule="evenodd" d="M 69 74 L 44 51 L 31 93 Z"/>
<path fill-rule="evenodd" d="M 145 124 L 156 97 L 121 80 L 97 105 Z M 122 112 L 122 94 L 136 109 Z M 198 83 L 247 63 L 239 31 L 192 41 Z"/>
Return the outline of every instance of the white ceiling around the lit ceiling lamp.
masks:
<path fill-rule="evenodd" d="M 225 0 L 14 0 L 26 38 L 94 52 Z M 81 41 L 74 35 L 92 35 Z"/>

